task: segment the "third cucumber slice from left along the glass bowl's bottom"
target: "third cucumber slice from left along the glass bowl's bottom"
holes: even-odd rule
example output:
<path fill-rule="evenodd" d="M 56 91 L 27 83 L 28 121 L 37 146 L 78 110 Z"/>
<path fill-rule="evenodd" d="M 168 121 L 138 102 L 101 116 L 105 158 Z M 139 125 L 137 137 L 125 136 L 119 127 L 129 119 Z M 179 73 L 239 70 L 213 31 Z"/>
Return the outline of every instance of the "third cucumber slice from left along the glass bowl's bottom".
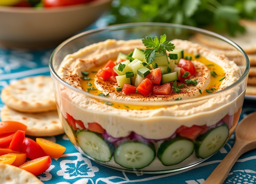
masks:
<path fill-rule="evenodd" d="M 157 152 L 163 165 L 179 164 L 194 151 L 194 142 L 185 138 L 174 138 L 164 141 Z"/>

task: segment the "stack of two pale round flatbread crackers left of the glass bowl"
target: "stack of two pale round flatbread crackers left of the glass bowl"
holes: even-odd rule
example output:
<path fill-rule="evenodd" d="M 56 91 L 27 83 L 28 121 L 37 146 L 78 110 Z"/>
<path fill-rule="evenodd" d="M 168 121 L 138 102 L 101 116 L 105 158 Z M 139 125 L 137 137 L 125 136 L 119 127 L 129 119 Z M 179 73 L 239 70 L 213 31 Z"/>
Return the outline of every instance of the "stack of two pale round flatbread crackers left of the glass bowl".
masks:
<path fill-rule="evenodd" d="M 2 121 L 19 121 L 27 125 L 26 135 L 54 136 L 63 134 L 56 108 L 50 76 L 24 78 L 1 92 L 4 107 Z"/>

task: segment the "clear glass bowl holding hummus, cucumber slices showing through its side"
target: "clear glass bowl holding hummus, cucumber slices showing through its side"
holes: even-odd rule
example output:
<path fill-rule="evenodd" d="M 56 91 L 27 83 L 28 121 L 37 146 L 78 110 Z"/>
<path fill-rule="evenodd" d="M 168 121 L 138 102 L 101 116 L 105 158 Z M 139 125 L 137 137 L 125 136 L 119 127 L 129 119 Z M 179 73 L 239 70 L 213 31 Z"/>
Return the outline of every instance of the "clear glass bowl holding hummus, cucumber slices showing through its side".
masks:
<path fill-rule="evenodd" d="M 205 48 L 220 54 L 235 53 L 227 56 L 235 61 L 240 75 L 234 77 L 232 84 L 218 91 L 212 89 L 207 95 L 182 100 L 134 101 L 81 90 L 75 83 L 83 81 L 81 73 L 71 71 L 76 80 L 68 82 L 58 73 L 64 57 L 91 44 L 107 39 L 160 38 L 163 34 L 167 40 L 192 40 L 199 44 L 196 38 L 201 35 L 206 43 L 214 43 L 202 43 Z M 227 45 L 227 50 L 212 47 L 218 44 Z M 106 56 L 102 62 L 105 64 L 109 59 L 115 58 Z M 249 59 L 234 42 L 206 30 L 165 23 L 131 23 L 69 38 L 53 51 L 50 71 L 62 126 L 79 152 L 120 171 L 168 173 L 201 163 L 228 141 L 242 109 Z M 88 82 L 94 83 L 93 79 L 84 83 Z"/>

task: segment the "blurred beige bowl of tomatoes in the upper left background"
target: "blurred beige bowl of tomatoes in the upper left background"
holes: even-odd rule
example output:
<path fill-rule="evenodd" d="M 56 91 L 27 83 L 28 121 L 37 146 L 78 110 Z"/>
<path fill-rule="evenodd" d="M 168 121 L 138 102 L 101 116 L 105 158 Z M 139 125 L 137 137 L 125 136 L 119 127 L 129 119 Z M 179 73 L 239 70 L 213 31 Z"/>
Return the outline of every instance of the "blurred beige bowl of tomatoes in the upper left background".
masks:
<path fill-rule="evenodd" d="M 55 46 L 96 21 L 112 0 L 0 1 L 0 45 L 7 48 Z"/>

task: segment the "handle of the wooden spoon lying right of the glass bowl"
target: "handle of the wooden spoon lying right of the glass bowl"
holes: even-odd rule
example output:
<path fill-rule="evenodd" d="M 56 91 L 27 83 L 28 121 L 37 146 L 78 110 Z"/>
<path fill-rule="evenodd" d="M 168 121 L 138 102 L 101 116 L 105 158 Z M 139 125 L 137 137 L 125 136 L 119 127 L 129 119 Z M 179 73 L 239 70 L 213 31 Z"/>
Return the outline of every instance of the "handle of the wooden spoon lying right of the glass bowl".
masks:
<path fill-rule="evenodd" d="M 228 173 L 235 164 L 236 160 L 244 153 L 244 149 L 241 149 L 241 147 L 243 147 L 241 144 L 235 143 L 226 157 L 205 180 L 204 184 L 222 184 L 227 178 Z"/>

